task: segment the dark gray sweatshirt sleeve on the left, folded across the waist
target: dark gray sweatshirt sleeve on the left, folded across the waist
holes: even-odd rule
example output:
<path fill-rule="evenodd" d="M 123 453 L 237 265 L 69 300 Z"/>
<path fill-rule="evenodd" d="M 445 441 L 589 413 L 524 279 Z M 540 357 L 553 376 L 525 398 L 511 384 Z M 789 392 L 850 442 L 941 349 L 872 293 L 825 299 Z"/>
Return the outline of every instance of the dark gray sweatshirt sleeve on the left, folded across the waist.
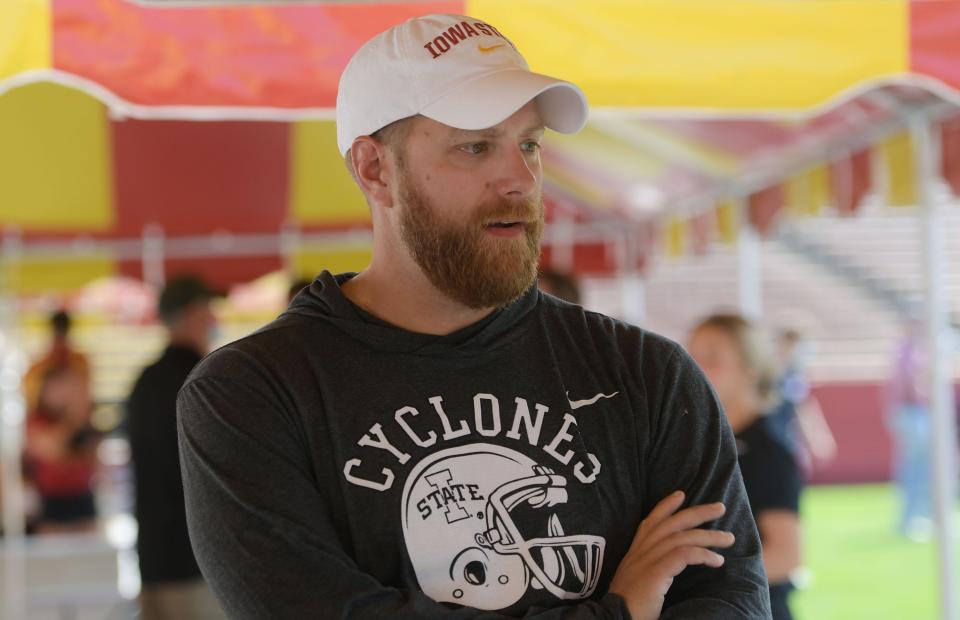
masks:
<path fill-rule="evenodd" d="M 197 561 L 231 618 L 499 618 L 379 583 L 338 539 L 311 456 L 269 386 L 195 376 L 178 423 Z M 623 599 L 530 609 L 543 619 L 627 619 Z"/>

